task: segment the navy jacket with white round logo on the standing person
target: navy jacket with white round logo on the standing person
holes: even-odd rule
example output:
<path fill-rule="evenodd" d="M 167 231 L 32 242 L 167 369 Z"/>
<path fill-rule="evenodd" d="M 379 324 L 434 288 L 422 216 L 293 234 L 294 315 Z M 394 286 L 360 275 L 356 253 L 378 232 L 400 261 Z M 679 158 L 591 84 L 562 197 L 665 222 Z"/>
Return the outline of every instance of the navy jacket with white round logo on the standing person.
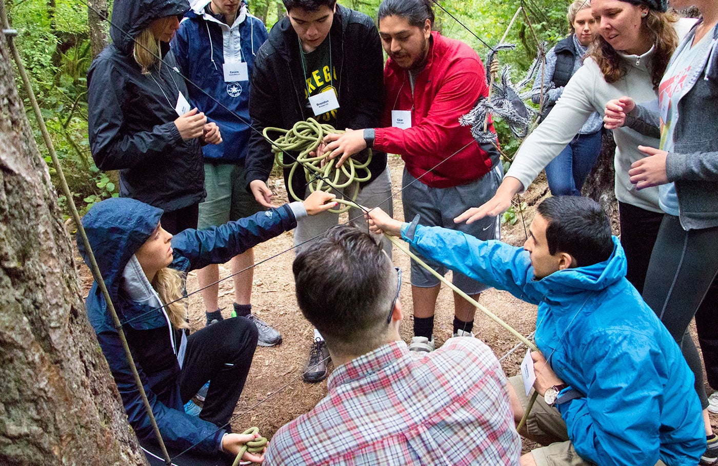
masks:
<path fill-rule="evenodd" d="M 250 82 L 225 82 L 223 66 L 225 60 L 246 62 L 251 77 L 255 54 L 266 41 L 267 30 L 260 19 L 249 14 L 246 6 L 241 6 L 236 21 L 229 27 L 205 11 L 209 3 L 210 0 L 200 0 L 192 7 L 170 45 L 182 74 L 229 109 L 195 85 L 187 85 L 192 106 L 201 108 L 222 133 L 221 144 L 202 147 L 205 161 L 243 162 L 251 134 Z"/>

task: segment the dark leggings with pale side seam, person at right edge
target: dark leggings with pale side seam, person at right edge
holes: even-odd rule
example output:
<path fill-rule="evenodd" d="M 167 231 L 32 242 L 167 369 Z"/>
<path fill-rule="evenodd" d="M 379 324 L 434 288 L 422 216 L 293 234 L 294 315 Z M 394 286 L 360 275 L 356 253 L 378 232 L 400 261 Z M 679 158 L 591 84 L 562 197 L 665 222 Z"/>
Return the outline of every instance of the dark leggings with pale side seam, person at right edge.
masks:
<path fill-rule="evenodd" d="M 651 254 L 643 299 L 666 325 L 679 344 L 696 377 L 701 406 L 708 406 L 703 384 L 703 366 L 688 331 L 691 319 L 718 272 L 718 227 L 686 230 L 678 217 L 666 214 Z M 712 304 L 712 303 L 709 303 Z M 706 309 L 711 325 L 716 323 L 715 306 Z"/>

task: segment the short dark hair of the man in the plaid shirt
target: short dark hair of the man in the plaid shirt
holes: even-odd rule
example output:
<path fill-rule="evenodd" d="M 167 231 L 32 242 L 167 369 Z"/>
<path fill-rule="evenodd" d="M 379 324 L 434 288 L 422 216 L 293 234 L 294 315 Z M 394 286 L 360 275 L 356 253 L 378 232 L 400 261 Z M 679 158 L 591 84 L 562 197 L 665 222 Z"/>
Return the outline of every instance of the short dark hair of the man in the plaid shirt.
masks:
<path fill-rule="evenodd" d="M 380 244 L 352 224 L 327 230 L 292 265 L 297 303 L 330 343 L 358 343 L 386 328 L 398 286 Z"/>

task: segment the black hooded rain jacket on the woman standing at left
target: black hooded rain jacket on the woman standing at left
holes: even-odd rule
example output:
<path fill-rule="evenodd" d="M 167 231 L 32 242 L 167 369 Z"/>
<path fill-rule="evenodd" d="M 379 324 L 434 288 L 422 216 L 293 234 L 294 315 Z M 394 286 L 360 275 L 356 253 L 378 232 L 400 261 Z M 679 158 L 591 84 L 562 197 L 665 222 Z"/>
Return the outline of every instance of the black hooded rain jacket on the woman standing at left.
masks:
<path fill-rule="evenodd" d="M 198 138 L 182 141 L 174 125 L 185 81 L 172 71 L 174 55 L 162 42 L 164 62 L 142 75 L 132 56 L 134 40 L 154 19 L 182 15 L 187 0 L 116 0 L 113 44 L 88 70 L 90 149 L 101 170 L 120 170 L 120 196 L 174 211 L 205 199 Z M 127 34 L 125 34 L 127 33 Z M 169 65 L 169 66 L 168 66 Z M 187 100 L 189 100 L 187 98 Z"/>

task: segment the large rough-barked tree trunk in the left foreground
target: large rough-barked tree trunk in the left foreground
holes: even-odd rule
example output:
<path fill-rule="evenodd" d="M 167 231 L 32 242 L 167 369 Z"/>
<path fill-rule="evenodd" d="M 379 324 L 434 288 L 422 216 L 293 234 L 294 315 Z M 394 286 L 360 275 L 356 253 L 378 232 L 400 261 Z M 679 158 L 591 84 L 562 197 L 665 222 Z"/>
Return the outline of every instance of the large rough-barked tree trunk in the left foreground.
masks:
<path fill-rule="evenodd" d="M 0 464 L 146 465 L 0 34 Z"/>

